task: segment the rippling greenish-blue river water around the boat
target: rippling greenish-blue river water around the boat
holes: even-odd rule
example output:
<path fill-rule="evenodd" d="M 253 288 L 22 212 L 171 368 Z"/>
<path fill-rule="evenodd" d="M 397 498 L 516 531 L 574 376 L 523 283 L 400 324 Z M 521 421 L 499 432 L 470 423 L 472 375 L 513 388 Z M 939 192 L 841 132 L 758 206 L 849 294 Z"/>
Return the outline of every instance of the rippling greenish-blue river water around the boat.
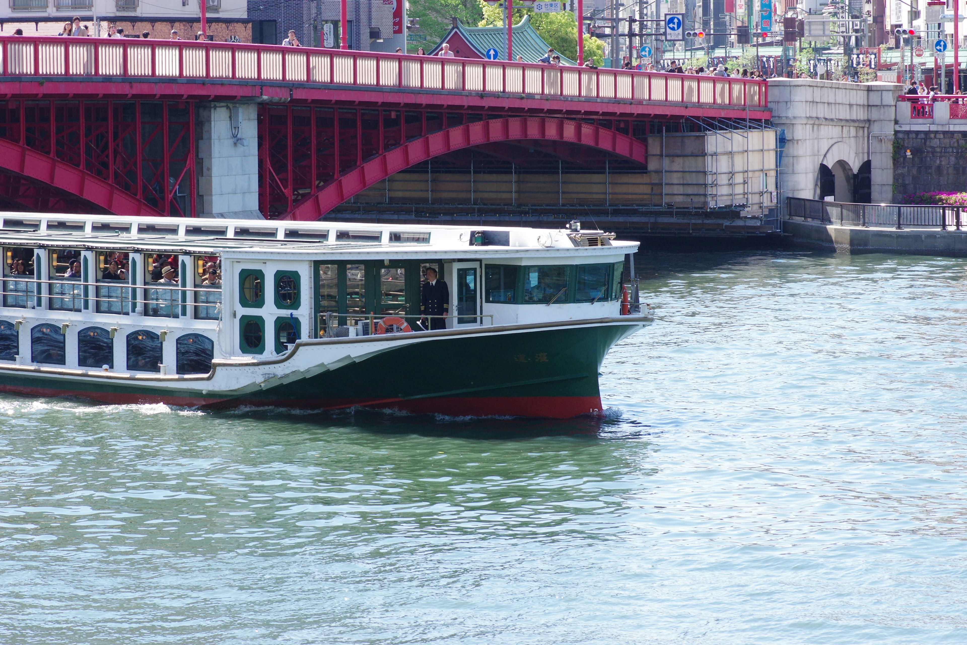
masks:
<path fill-rule="evenodd" d="M 0 642 L 967 642 L 967 262 L 638 265 L 602 422 L 0 397 Z"/>

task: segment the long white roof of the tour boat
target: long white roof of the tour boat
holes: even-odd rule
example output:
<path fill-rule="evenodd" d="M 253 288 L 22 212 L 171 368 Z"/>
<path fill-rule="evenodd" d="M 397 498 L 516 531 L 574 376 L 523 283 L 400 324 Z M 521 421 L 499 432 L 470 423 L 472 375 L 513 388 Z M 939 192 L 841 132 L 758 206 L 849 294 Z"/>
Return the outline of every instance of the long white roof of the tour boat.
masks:
<path fill-rule="evenodd" d="M 474 233 L 484 231 L 490 240 L 471 245 Z M 441 250 L 574 249 L 572 229 L 494 227 L 434 224 L 366 224 L 335 220 L 215 220 L 141 218 L 98 215 L 62 215 L 0 212 L 0 244 L 57 249 L 131 250 L 181 254 L 229 252 L 330 253 L 414 251 L 438 254 Z M 607 235 L 581 230 L 586 236 Z M 632 252 L 635 242 L 607 242 L 624 247 L 611 252 Z M 233 252 L 234 251 L 234 252 Z M 428 253 L 427 253 L 428 254 Z"/>

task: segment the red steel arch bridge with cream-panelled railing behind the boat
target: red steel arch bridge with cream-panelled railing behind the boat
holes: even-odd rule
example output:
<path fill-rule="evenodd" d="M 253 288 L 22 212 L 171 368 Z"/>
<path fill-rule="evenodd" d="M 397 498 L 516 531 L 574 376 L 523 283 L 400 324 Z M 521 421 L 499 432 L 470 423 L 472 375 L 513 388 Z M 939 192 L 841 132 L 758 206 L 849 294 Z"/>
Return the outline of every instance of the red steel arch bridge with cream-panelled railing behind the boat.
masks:
<path fill-rule="evenodd" d="M 2 38 L 0 56 L 0 206 L 16 210 L 194 217 L 251 191 L 264 217 L 315 220 L 373 191 L 434 203 L 434 163 L 454 186 L 469 168 L 469 189 L 437 191 L 443 203 L 503 203 L 475 195 L 477 172 L 512 181 L 516 205 L 518 169 L 557 183 L 538 201 L 611 203 L 611 173 L 654 172 L 666 134 L 771 118 L 767 84 L 742 78 L 134 39 Z M 205 105 L 229 108 L 230 154 L 213 152 L 222 134 L 203 136 L 215 130 Z M 231 187 L 243 176 L 232 157 L 251 158 L 257 190 Z M 668 203 L 661 166 L 653 206 Z M 566 199 L 566 173 L 570 189 L 601 175 L 603 196 Z"/>

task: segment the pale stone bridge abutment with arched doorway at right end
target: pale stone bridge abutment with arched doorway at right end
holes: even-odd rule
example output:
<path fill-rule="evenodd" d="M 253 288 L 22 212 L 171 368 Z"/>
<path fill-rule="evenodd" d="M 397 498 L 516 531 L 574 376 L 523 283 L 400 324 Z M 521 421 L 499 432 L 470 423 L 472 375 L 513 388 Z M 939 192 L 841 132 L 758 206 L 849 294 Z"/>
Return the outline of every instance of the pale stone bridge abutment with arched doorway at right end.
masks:
<path fill-rule="evenodd" d="M 895 83 L 770 80 L 773 125 L 786 139 L 779 165 L 783 195 L 892 202 L 900 89 Z"/>

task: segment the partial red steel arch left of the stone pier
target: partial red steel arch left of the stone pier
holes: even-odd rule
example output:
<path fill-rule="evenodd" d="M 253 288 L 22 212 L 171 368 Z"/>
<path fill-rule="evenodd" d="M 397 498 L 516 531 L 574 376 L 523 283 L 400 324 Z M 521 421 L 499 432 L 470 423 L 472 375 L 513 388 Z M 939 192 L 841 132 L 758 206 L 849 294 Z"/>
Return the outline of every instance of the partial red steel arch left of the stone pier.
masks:
<path fill-rule="evenodd" d="M 0 168 L 71 192 L 112 215 L 165 217 L 130 192 L 112 186 L 86 170 L 6 139 L 0 139 Z"/>

